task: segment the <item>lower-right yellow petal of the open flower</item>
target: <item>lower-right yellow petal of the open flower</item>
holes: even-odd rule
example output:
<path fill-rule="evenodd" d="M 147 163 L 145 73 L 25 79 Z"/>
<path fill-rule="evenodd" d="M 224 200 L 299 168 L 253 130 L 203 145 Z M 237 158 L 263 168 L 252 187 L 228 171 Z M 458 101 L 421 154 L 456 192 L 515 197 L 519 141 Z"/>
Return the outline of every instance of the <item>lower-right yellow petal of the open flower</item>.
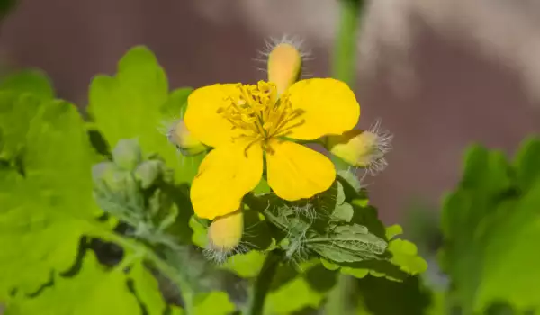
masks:
<path fill-rule="evenodd" d="M 268 184 L 280 198 L 295 201 L 329 189 L 336 169 L 328 157 L 300 144 L 272 140 L 266 154 Z"/>

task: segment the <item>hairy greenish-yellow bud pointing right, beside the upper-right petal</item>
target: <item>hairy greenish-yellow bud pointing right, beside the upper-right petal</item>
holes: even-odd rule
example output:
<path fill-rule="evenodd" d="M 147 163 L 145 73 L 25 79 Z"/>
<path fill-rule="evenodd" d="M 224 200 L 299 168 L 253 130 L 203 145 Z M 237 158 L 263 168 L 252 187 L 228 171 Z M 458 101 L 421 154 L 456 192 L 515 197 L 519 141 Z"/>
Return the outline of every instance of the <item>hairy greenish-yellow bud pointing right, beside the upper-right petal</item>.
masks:
<path fill-rule="evenodd" d="M 384 155 L 390 151 L 392 135 L 370 130 L 349 130 L 339 136 L 328 136 L 325 147 L 351 166 L 368 168 L 372 173 L 387 165 Z"/>

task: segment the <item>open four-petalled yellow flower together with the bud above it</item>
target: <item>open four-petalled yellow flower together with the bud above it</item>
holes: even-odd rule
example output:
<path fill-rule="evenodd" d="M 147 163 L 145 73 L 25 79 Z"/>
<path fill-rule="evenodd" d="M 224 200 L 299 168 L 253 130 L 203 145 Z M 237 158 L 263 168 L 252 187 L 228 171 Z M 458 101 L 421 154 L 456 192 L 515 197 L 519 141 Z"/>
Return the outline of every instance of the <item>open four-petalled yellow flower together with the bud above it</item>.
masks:
<path fill-rule="evenodd" d="M 268 73 L 275 83 L 209 85 L 189 95 L 185 126 L 213 148 L 191 187 L 197 216 L 213 220 L 237 211 L 260 182 L 265 162 L 268 184 L 287 201 L 310 198 L 334 182 L 329 158 L 290 139 L 309 141 L 351 130 L 360 106 L 341 81 L 294 83 L 302 65 L 298 58 L 293 46 L 280 44 L 269 55 Z"/>

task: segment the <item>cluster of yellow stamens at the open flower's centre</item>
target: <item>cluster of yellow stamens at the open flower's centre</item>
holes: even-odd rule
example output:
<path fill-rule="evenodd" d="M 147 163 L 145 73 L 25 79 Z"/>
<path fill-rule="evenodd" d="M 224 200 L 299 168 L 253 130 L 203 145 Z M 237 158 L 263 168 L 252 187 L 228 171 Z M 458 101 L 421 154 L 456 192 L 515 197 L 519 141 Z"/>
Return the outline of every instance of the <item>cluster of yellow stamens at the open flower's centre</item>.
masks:
<path fill-rule="evenodd" d="M 238 84 L 238 94 L 229 96 L 218 110 L 230 121 L 233 129 L 241 130 L 240 137 L 254 141 L 284 137 L 304 123 L 303 111 L 293 109 L 289 95 L 277 97 L 275 84 L 259 81 L 257 85 Z"/>

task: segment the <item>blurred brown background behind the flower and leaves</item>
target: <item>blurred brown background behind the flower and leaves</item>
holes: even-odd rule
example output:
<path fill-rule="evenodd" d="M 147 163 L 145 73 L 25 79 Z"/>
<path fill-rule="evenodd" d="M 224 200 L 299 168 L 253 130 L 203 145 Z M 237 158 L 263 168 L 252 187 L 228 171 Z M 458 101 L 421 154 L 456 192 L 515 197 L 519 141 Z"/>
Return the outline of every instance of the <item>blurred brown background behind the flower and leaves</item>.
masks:
<path fill-rule="evenodd" d="M 540 130 L 540 4 L 510 0 L 377 0 L 358 35 L 361 126 L 392 131 L 387 170 L 366 178 L 383 220 L 411 200 L 437 206 L 459 178 L 466 145 L 513 154 Z M 172 87 L 264 78 L 264 40 L 302 36 L 312 76 L 329 76 L 338 23 L 330 0 L 22 0 L 2 25 L 0 49 L 39 67 L 58 96 L 84 107 L 98 73 L 147 45 Z"/>

